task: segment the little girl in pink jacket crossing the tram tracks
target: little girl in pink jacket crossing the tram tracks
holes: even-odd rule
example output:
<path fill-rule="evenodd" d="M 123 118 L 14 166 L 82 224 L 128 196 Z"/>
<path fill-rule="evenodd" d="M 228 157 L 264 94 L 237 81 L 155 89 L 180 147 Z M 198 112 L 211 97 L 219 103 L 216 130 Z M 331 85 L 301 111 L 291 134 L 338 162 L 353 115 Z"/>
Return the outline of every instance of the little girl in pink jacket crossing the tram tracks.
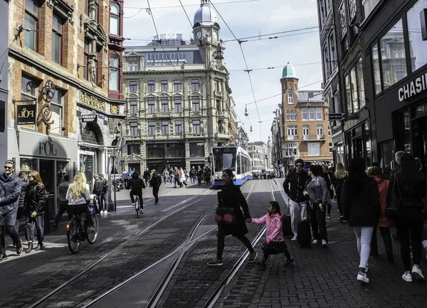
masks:
<path fill-rule="evenodd" d="M 280 213 L 279 203 L 275 201 L 268 202 L 267 211 L 268 214 L 265 214 L 261 218 L 246 219 L 246 221 L 251 222 L 252 224 L 266 225 L 266 241 L 262 247 L 264 253 L 263 260 L 256 264 L 265 268 L 265 263 L 267 263 L 269 255 L 284 253 L 287 258 L 285 266 L 288 266 L 293 262 L 293 260 L 295 260 L 295 258 L 290 256 L 288 246 L 286 246 L 285 239 L 283 238 L 282 214 Z"/>

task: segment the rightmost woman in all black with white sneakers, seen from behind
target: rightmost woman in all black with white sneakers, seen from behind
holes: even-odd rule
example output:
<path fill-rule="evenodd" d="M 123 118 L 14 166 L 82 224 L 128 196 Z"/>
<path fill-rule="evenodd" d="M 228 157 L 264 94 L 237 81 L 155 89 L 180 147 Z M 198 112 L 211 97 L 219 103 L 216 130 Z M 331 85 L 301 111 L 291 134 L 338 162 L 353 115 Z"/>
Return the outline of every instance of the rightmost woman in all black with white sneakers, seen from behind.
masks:
<path fill-rule="evenodd" d="M 421 233 L 424 224 L 421 211 L 424 208 L 422 199 L 426 196 L 426 177 L 422 171 L 418 170 L 415 158 L 409 153 L 401 155 L 400 167 L 399 171 L 390 176 L 387 204 L 390 204 L 391 191 L 394 189 L 401 198 L 401 213 L 394 216 L 393 219 L 401 238 L 401 257 L 405 267 L 402 279 L 406 282 L 412 282 L 413 278 L 424 281 L 419 264 L 422 251 Z M 410 240 L 413 255 L 412 273 Z"/>

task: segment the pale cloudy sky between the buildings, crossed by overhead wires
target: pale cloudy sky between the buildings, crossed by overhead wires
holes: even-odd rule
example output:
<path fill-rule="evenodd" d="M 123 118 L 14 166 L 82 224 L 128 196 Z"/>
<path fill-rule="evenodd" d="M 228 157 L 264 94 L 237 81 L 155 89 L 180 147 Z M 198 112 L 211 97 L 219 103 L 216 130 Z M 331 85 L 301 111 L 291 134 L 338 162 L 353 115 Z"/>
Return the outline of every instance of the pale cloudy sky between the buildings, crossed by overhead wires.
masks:
<path fill-rule="evenodd" d="M 152 16 L 146 11 L 147 0 L 125 0 L 124 36 L 130 39 L 125 40 L 125 46 L 146 45 L 147 40 L 156 34 L 152 17 L 159 34 L 193 35 L 192 23 L 200 0 L 181 0 L 191 24 L 179 0 L 148 1 Z M 272 96 L 281 92 L 283 67 L 288 62 L 295 65 L 300 89 L 320 90 L 322 57 L 319 33 L 316 28 L 295 31 L 318 26 L 316 0 L 212 0 L 212 3 L 218 11 L 221 39 L 233 40 L 231 31 L 238 39 L 266 35 L 263 39 L 251 38 L 241 44 L 248 70 L 252 70 L 249 74 L 244 71 L 246 65 L 236 40 L 226 42 L 223 55 L 230 72 L 229 85 L 233 92 L 231 97 L 236 103 L 237 121 L 243 123 L 249 142 L 267 143 L 271 135 L 273 111 L 281 102 L 280 95 Z M 268 35 L 284 31 L 292 32 Z M 278 38 L 269 39 L 275 36 Z M 307 84 L 311 85 L 304 87 Z M 265 99 L 268 97 L 272 98 Z M 245 107 L 248 116 L 244 115 Z"/>

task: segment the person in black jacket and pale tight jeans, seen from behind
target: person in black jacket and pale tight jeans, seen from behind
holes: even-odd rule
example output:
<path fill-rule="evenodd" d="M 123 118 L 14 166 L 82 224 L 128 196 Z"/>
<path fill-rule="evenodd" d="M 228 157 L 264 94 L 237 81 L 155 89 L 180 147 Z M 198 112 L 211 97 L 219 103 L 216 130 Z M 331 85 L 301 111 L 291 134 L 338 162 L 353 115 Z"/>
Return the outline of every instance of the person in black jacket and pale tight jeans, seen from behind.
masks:
<path fill-rule="evenodd" d="M 350 162 L 349 177 L 342 185 L 341 204 L 344 219 L 354 229 L 359 251 L 359 268 L 357 280 L 369 282 L 367 267 L 371 238 L 374 227 L 381 215 L 379 188 L 376 180 L 364 172 L 366 166 L 363 158 L 353 158 Z"/>

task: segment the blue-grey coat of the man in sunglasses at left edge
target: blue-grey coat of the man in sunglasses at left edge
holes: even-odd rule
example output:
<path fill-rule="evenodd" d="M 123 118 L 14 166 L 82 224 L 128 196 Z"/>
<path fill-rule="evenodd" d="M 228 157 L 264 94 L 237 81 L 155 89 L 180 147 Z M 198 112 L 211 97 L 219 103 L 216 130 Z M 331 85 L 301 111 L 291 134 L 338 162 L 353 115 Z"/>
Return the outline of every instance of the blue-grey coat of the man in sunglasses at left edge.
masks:
<path fill-rule="evenodd" d="M 14 226 L 21 196 L 21 179 L 12 173 L 0 176 L 0 226 Z"/>

